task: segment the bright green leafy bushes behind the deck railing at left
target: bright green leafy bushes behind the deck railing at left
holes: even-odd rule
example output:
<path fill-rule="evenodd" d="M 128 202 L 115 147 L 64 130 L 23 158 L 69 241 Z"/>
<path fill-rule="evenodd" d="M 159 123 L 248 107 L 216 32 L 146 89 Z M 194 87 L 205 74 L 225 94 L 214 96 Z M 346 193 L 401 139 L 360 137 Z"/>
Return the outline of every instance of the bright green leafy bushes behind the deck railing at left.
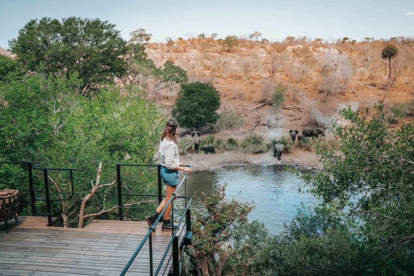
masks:
<path fill-rule="evenodd" d="M 69 79 L 35 74 L 23 82 L 0 86 L 0 159 L 41 161 L 44 166 L 78 169 L 74 173 L 75 195 L 65 202 L 65 211 L 60 203 L 53 205 L 54 216 L 68 215 L 67 221 L 63 221 L 68 226 L 76 225 L 80 199 L 88 194 L 99 162 L 103 162 L 102 184 L 115 179 L 117 162 L 152 163 L 162 127 L 161 113 L 155 105 L 148 104 L 142 91 L 121 95 L 119 89 L 108 87 L 101 89 L 94 99 L 88 99 L 75 94 L 81 83 L 77 74 Z M 20 170 L 18 166 L 3 165 L 0 170 L 0 188 L 18 188 L 23 184 L 12 181 L 16 170 Z M 35 173 L 36 185 L 41 189 L 41 172 Z M 156 179 L 156 172 L 155 178 L 151 173 L 142 175 L 147 181 L 137 177 L 140 170 L 125 168 L 123 174 L 123 184 L 129 189 L 154 194 L 156 185 L 151 185 L 151 181 Z M 130 182 L 134 174 L 145 185 Z M 27 177 L 24 168 L 18 175 L 21 179 Z M 50 176 L 63 194 L 70 192 L 64 172 Z M 87 213 L 117 205 L 113 194 L 115 185 L 102 188 L 87 204 Z M 55 187 L 51 187 L 51 197 L 59 197 Z M 125 202 L 134 200 L 128 198 Z"/>

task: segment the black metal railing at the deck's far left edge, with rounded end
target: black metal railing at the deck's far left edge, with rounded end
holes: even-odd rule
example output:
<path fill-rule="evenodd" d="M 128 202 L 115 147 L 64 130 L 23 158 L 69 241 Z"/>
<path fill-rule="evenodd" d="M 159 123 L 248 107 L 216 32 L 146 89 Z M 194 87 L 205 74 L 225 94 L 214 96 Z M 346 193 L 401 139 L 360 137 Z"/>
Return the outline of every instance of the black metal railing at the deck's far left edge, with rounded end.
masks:
<path fill-rule="evenodd" d="M 39 162 L 32 162 L 32 161 L 2 161 L 0 164 L 26 164 L 27 165 L 27 173 L 28 173 L 28 181 L 29 181 L 29 189 L 19 189 L 21 192 L 29 192 L 30 193 L 30 203 L 20 203 L 22 205 L 30 205 L 31 206 L 31 214 L 32 216 L 37 215 L 46 215 L 48 217 L 48 226 L 52 226 L 52 204 L 55 201 L 65 201 L 70 200 L 73 197 L 73 171 L 76 169 L 73 168 L 39 168 Z M 42 170 L 43 171 L 43 181 L 44 181 L 44 193 L 45 198 L 39 198 L 41 194 L 37 197 L 35 193 L 42 193 L 42 190 L 34 190 L 33 185 L 33 170 Z M 50 198 L 49 192 L 49 178 L 48 178 L 48 171 L 49 170 L 64 170 L 70 172 L 70 186 L 71 186 L 71 194 L 68 198 Z M 36 201 L 44 201 L 46 202 L 46 214 L 38 214 L 36 211 Z"/>

